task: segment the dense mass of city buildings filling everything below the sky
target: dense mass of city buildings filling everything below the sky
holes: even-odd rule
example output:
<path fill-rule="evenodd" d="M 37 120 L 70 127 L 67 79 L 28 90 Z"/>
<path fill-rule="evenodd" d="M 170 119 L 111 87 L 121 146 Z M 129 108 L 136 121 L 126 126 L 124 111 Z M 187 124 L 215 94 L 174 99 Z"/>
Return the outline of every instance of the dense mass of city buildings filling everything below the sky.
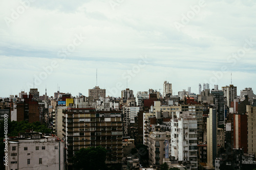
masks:
<path fill-rule="evenodd" d="M 101 147 L 104 151 L 97 152 L 105 152 L 103 169 L 256 168 L 252 88 L 239 94 L 233 84 L 209 89 L 203 83 L 198 94 L 188 87 L 173 95 L 172 87 L 164 81 L 162 92 L 134 93 L 126 88 L 120 91 L 121 98 L 106 96 L 106 89 L 99 86 L 89 89 L 88 96 L 60 91 L 50 96 L 47 89 L 40 94 L 31 88 L 1 98 L 1 120 L 8 127 L 4 165 L 6 169 L 96 169 L 89 151 L 90 161 L 79 165 L 78 152 Z M 26 129 L 25 124 L 17 136 L 11 136 L 10 121 L 45 125 L 49 131 Z M 100 158 L 95 159 L 97 164 Z"/>

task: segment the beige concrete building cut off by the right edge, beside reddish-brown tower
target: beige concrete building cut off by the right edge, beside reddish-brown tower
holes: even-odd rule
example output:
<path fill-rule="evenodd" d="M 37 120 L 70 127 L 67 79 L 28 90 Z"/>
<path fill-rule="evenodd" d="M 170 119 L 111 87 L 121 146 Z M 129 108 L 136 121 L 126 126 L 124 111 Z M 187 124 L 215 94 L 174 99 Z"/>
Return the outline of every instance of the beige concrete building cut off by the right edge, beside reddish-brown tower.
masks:
<path fill-rule="evenodd" d="M 247 105 L 248 154 L 256 155 L 256 106 Z"/>

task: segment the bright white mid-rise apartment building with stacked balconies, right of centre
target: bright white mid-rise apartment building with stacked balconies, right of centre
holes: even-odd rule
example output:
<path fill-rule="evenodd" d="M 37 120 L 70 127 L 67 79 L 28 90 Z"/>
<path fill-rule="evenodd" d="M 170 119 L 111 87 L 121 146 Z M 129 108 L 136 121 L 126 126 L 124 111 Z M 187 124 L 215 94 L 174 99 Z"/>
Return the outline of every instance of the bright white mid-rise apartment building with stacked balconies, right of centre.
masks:
<path fill-rule="evenodd" d="M 172 116 L 170 120 L 171 155 L 178 161 L 190 161 L 194 164 L 191 169 L 197 169 L 197 119 L 189 116 L 188 112 L 183 114 L 177 111 L 177 118 Z"/>

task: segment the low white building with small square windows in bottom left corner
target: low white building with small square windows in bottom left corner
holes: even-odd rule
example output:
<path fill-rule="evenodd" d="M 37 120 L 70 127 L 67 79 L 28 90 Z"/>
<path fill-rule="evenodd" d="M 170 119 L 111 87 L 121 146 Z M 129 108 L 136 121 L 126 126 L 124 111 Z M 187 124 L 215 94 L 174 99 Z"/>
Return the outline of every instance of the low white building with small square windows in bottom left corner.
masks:
<path fill-rule="evenodd" d="M 64 169 L 64 142 L 41 133 L 23 133 L 8 141 L 7 169 Z"/>

